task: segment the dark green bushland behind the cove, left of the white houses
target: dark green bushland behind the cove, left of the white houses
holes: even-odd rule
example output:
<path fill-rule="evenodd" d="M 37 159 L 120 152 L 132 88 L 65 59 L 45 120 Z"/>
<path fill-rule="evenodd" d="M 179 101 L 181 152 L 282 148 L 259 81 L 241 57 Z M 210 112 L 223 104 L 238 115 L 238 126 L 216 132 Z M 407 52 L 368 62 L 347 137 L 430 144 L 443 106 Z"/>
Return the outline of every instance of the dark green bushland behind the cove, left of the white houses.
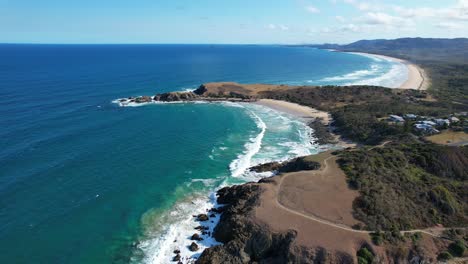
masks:
<path fill-rule="evenodd" d="M 424 92 L 375 86 L 298 87 L 266 91 L 261 96 L 329 111 L 341 135 L 364 144 L 378 144 L 411 131 L 411 126 L 389 124 L 382 120 L 390 114 L 413 113 L 439 117 L 451 113 L 445 103 L 423 100 L 427 96 Z"/>

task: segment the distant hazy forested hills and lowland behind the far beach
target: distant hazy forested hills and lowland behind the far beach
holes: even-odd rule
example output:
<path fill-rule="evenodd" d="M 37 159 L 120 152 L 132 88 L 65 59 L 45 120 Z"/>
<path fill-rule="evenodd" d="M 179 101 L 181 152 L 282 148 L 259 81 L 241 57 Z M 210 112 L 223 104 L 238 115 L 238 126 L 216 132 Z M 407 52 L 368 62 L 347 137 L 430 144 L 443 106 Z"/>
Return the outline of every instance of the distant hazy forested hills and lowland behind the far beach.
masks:
<path fill-rule="evenodd" d="M 318 45 L 342 51 L 382 54 L 412 61 L 430 75 L 430 92 L 453 109 L 468 109 L 468 39 L 403 38 Z"/>

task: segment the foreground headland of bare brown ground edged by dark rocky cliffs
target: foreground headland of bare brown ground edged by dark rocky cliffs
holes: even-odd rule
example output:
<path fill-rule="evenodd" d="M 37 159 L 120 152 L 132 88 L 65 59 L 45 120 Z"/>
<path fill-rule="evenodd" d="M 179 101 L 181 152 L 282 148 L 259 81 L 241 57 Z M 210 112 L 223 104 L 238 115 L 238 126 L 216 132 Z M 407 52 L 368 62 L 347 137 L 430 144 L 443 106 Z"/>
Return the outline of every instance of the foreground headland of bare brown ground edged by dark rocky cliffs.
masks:
<path fill-rule="evenodd" d="M 196 263 L 435 263 L 463 239 L 462 229 L 350 227 L 356 220 L 346 215 L 355 191 L 335 154 L 255 166 L 250 170 L 280 174 L 220 189 L 217 201 L 224 207 L 213 236 L 223 244 L 205 249 Z M 321 197 L 326 205 L 320 206 Z"/>

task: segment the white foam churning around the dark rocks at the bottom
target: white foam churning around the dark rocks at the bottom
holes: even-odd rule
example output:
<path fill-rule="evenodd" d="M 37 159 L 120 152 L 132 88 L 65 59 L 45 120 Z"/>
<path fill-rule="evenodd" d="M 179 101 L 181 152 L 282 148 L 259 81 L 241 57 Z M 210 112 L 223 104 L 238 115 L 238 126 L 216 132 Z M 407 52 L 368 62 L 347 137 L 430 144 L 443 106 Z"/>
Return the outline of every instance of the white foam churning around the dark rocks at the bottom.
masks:
<path fill-rule="evenodd" d="M 209 221 L 194 221 L 192 214 L 208 214 L 208 210 L 213 207 L 219 207 L 216 204 L 215 194 L 212 193 L 209 198 L 195 198 L 191 202 L 178 203 L 170 212 L 158 217 L 161 221 L 169 221 L 171 224 L 164 224 L 163 230 L 154 233 L 154 237 L 147 239 L 139 244 L 139 248 L 145 252 L 144 263 L 162 264 L 174 263 L 174 250 L 180 250 L 180 256 L 183 263 L 192 263 L 198 258 L 204 249 L 220 244 L 209 235 L 201 235 L 202 241 L 195 241 L 199 250 L 192 252 L 188 246 L 194 242 L 190 236 L 199 233 L 195 227 L 203 225 L 208 227 L 207 232 L 213 233 L 213 229 L 219 222 L 219 214 L 211 217 Z M 211 213 L 209 213 L 211 214 Z"/>

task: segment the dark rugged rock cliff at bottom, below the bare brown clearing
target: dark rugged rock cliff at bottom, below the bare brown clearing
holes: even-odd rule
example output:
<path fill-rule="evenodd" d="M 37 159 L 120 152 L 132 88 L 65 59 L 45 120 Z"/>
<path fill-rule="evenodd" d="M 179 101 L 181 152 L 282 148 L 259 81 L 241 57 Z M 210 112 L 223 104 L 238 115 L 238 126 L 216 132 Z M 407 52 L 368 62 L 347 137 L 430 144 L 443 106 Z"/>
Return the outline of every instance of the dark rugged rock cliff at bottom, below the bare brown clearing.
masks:
<path fill-rule="evenodd" d="M 226 206 L 213 236 L 224 244 L 206 249 L 196 263 L 312 263 L 316 253 L 295 245 L 295 230 L 276 233 L 254 220 L 261 193 L 261 183 L 218 191 Z"/>

